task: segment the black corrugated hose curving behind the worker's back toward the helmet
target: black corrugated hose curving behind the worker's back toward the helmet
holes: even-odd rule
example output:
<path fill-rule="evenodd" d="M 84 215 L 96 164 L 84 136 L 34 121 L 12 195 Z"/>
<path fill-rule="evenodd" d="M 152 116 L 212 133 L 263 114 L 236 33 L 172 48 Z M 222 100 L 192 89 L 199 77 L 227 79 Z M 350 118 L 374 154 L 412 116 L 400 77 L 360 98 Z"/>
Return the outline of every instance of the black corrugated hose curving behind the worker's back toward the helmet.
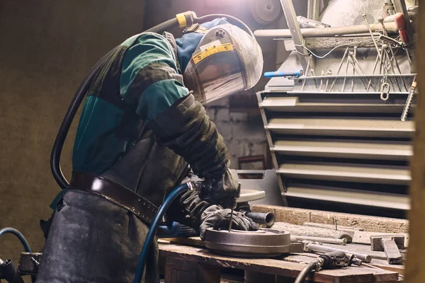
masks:
<path fill-rule="evenodd" d="M 144 33 L 162 33 L 165 30 L 173 28 L 177 25 L 179 25 L 177 19 L 172 18 L 168 21 L 165 21 L 164 23 L 155 25 L 153 28 L 149 28 L 149 30 L 145 30 Z M 84 96 L 86 96 L 87 91 L 89 91 L 89 86 L 91 81 L 94 79 L 94 76 L 96 76 L 98 71 L 102 69 L 106 62 L 108 62 L 108 59 L 111 58 L 111 55 L 115 52 L 115 50 L 117 50 L 118 46 L 103 56 L 102 59 L 100 59 L 94 65 L 94 67 L 91 68 L 89 74 L 87 74 L 87 76 L 81 82 L 77 92 L 74 94 L 74 98 L 72 98 L 71 103 L 69 103 L 67 113 L 65 114 L 64 120 L 62 120 L 62 124 L 60 125 L 59 131 L 57 132 L 55 143 L 53 144 L 52 148 L 52 154 L 50 155 L 50 168 L 52 170 L 53 177 L 62 190 L 69 188 L 69 183 L 64 177 L 62 169 L 60 168 L 60 155 L 62 153 L 65 139 L 67 139 L 69 127 L 71 127 L 72 121 L 77 114 L 77 110 L 81 105 L 81 102 L 84 100 Z"/>

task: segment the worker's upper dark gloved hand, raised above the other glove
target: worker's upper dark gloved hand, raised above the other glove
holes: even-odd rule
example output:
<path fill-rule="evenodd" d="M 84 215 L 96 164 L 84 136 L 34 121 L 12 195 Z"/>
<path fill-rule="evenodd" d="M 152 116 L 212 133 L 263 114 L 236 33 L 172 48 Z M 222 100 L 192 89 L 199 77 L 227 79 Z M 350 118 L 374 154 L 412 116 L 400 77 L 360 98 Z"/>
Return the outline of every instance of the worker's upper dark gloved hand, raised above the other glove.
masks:
<path fill-rule="evenodd" d="M 234 197 L 238 194 L 239 184 L 227 169 L 224 174 L 205 178 L 199 197 L 210 204 L 220 204 L 222 207 L 232 207 Z"/>

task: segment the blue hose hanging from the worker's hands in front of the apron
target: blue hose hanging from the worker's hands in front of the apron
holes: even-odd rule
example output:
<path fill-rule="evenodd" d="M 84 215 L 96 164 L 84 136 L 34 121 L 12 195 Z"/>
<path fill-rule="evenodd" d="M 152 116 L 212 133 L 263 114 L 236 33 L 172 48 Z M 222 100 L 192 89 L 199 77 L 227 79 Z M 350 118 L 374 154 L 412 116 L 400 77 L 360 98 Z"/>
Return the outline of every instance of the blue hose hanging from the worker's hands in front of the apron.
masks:
<path fill-rule="evenodd" d="M 133 283 L 140 283 L 140 281 L 142 281 L 143 270 L 145 269 L 147 254 L 149 253 L 149 249 L 152 246 L 152 241 L 154 240 L 155 233 L 157 233 L 157 229 L 159 224 L 161 223 L 162 216 L 164 216 L 166 210 L 169 209 L 171 202 L 173 202 L 176 199 L 176 197 L 178 197 L 182 192 L 185 192 L 186 190 L 191 189 L 193 185 L 197 187 L 200 184 L 189 182 L 183 185 L 179 185 L 179 187 L 176 187 L 174 190 L 172 190 L 169 193 L 169 195 L 166 196 L 161 207 L 159 207 L 159 211 L 157 212 L 157 214 L 154 217 L 154 220 L 152 221 L 152 224 L 149 228 L 149 232 L 147 232 L 145 244 L 143 245 L 142 253 L 140 253 L 139 262 L 137 263 L 137 270 L 136 270 L 136 275 L 135 275 L 135 279 Z"/>

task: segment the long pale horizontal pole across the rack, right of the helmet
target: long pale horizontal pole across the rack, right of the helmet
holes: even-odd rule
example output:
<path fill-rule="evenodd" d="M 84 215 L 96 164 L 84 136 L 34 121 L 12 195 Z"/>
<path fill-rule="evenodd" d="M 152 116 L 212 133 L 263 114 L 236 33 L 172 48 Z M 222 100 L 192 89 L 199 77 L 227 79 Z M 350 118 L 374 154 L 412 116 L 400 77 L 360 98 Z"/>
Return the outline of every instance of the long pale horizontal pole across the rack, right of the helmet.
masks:
<path fill-rule="evenodd" d="M 384 23 L 385 28 L 389 33 L 397 33 L 397 27 L 395 23 Z M 382 30 L 380 23 L 370 24 L 372 31 Z M 359 33 L 368 33 L 369 29 L 367 25 L 349 25 L 341 27 L 331 28 L 301 28 L 301 34 L 303 37 L 320 37 L 320 36 L 334 36 L 334 35 L 354 35 Z M 256 30 L 254 31 L 256 37 L 279 37 L 279 38 L 291 38 L 289 29 L 282 30 Z"/>

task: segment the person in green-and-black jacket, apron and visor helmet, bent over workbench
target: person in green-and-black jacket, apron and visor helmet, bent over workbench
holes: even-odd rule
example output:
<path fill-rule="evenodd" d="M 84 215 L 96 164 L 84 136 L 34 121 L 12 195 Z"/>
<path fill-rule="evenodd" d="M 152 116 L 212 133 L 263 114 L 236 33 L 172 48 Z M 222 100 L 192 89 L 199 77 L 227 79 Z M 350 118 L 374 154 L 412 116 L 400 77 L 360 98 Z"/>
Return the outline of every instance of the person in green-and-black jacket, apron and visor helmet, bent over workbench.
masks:
<path fill-rule="evenodd" d="M 192 171 L 167 219 L 200 231 L 229 226 L 237 183 L 229 152 L 203 108 L 253 87 L 261 48 L 225 18 L 125 40 L 96 74 L 81 112 L 69 190 L 42 221 L 47 237 L 37 282 L 132 282 L 149 224 L 164 196 Z M 190 165 L 190 166 L 188 166 Z M 233 229 L 258 226 L 239 212 Z M 154 243 L 143 282 L 159 282 Z"/>

